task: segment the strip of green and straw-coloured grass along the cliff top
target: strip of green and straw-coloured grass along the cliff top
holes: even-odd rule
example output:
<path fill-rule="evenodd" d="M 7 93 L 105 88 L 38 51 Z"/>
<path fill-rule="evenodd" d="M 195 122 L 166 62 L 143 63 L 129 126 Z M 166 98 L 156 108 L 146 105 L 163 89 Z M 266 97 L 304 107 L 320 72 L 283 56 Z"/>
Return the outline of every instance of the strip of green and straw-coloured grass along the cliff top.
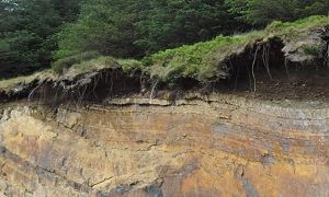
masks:
<path fill-rule="evenodd" d="M 310 16 L 296 22 L 273 22 L 263 31 L 252 31 L 246 34 L 223 36 L 213 40 L 185 45 L 174 49 L 159 51 L 141 61 L 133 59 L 114 59 L 112 57 L 95 56 L 83 61 L 72 61 L 65 70 L 43 71 L 29 77 L 0 80 L 0 89 L 5 90 L 15 83 L 26 83 L 36 78 L 56 78 L 56 76 L 76 77 L 91 70 L 100 70 L 121 66 L 124 70 L 140 69 L 151 77 L 170 82 L 181 77 L 194 78 L 205 82 L 212 79 L 226 78 L 224 62 L 232 56 L 245 51 L 246 47 L 269 38 L 279 37 L 284 43 L 303 40 L 310 32 L 329 25 L 328 16 Z M 90 56 L 88 54 L 88 56 Z M 55 62 L 56 63 L 56 62 Z"/>

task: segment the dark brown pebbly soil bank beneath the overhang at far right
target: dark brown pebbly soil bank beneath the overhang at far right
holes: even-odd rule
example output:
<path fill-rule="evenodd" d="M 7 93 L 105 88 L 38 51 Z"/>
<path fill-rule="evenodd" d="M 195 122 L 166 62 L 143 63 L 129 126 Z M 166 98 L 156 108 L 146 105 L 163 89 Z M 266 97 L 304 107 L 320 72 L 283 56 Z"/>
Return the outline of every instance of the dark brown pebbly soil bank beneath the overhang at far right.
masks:
<path fill-rule="evenodd" d="M 249 93 L 266 100 L 329 101 L 329 70 L 299 70 L 277 72 L 273 80 L 266 73 L 256 74 L 256 93 L 250 84 Z M 252 79 L 253 82 L 253 79 Z M 241 91 L 240 91 L 241 92 Z"/>

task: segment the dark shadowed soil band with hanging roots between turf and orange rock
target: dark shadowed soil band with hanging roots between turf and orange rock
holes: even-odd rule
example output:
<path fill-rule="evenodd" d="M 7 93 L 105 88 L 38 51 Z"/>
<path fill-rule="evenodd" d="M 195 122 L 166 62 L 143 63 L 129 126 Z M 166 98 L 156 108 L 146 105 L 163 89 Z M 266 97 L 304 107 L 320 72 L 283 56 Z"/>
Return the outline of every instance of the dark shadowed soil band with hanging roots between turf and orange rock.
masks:
<path fill-rule="evenodd" d="M 260 40 L 248 46 L 245 51 L 228 57 L 223 66 L 229 72 L 226 79 L 213 78 L 201 82 L 192 77 L 182 77 L 166 84 L 140 70 L 126 73 L 121 68 L 111 68 L 92 71 L 76 79 L 34 81 L 22 85 L 24 92 L 14 96 L 36 102 L 38 100 L 38 104 L 53 101 L 53 106 L 60 102 L 72 102 L 77 107 L 88 102 L 105 103 L 131 95 L 146 96 L 152 104 L 155 97 L 171 100 L 189 91 L 200 91 L 202 94 L 235 91 L 237 94 L 254 93 L 250 94 L 252 96 L 291 99 L 329 97 L 329 88 L 326 88 L 329 79 L 329 73 L 326 73 L 329 70 L 329 44 L 324 46 L 320 57 L 306 62 L 309 65 L 296 61 L 283 51 L 283 47 L 280 38 Z M 164 91 L 170 91 L 170 94 Z M 11 100 L 13 99 L 12 96 Z"/>

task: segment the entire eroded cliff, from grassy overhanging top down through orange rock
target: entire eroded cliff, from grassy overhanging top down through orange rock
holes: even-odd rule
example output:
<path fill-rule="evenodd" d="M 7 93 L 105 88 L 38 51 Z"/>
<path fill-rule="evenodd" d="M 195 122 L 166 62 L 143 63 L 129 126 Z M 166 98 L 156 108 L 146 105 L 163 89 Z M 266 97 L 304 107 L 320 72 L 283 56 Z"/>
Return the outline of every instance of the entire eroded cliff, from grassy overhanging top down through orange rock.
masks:
<path fill-rule="evenodd" d="M 0 81 L 0 194 L 328 196 L 328 23 Z"/>

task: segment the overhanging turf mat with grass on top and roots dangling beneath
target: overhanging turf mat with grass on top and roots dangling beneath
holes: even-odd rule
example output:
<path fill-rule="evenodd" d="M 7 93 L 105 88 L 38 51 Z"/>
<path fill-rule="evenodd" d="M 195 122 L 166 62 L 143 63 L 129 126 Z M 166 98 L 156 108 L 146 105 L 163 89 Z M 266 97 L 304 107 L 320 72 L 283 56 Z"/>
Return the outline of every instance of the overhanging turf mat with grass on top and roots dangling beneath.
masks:
<path fill-rule="evenodd" d="M 249 74 L 252 84 L 256 69 L 260 67 L 270 78 L 272 69 L 282 68 L 288 74 L 291 65 L 327 69 L 328 49 L 329 18 L 310 16 L 296 22 L 273 22 L 263 31 L 242 35 L 219 35 L 209 42 L 168 49 L 141 60 L 103 56 L 79 61 L 64 59 L 55 62 L 53 70 L 0 81 L 0 92 L 9 95 L 25 90 L 31 94 L 39 84 L 49 82 L 54 86 L 75 89 L 94 84 L 99 74 L 109 78 L 109 70 L 111 73 L 120 70 L 127 78 L 137 74 L 140 83 L 147 81 L 149 84 L 174 84 L 181 79 L 208 84 L 239 74 Z"/>

